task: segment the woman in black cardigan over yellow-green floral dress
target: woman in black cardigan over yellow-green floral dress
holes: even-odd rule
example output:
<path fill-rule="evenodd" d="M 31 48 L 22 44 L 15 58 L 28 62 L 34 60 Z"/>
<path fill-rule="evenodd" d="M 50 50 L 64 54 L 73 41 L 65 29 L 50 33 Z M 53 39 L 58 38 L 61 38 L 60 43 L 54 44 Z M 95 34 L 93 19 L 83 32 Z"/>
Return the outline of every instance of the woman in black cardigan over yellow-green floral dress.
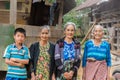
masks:
<path fill-rule="evenodd" d="M 48 41 L 49 36 L 49 27 L 43 26 L 40 31 L 40 41 L 30 47 L 31 80 L 53 80 L 55 46 Z"/>

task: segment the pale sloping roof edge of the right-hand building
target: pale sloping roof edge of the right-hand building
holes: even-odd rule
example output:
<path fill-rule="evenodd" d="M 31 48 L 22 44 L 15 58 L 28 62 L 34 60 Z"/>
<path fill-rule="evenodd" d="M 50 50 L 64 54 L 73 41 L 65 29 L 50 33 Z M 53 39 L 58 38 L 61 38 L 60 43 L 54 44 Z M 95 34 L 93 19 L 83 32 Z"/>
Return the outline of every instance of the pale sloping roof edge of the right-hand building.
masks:
<path fill-rule="evenodd" d="M 78 11 L 78 10 L 81 10 L 81 9 L 85 9 L 85 8 L 91 7 L 91 6 L 97 4 L 100 1 L 101 0 L 86 0 L 83 4 L 81 4 L 78 7 L 76 7 L 75 10 Z"/>

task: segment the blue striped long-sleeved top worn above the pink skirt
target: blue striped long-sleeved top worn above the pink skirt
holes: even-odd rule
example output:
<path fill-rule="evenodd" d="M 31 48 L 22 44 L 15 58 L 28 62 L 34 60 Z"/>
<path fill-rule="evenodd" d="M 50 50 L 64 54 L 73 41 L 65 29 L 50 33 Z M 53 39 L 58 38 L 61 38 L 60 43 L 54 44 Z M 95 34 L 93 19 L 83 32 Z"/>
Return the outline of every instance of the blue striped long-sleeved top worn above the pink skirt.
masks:
<path fill-rule="evenodd" d="M 107 41 L 102 41 L 99 46 L 94 44 L 93 40 L 85 43 L 84 54 L 82 59 L 82 67 L 86 67 L 88 58 L 95 60 L 106 60 L 107 66 L 111 66 L 110 45 Z"/>

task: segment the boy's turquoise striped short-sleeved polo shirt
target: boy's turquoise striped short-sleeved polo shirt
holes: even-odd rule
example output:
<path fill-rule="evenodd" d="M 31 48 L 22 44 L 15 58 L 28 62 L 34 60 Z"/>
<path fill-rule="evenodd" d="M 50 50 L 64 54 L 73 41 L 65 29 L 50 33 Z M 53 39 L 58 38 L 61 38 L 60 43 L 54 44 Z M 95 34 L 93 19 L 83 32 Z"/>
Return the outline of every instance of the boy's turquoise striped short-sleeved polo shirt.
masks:
<path fill-rule="evenodd" d="M 22 48 L 18 50 L 15 43 L 8 45 L 3 58 L 16 58 L 21 60 L 28 60 L 30 58 L 29 50 L 25 45 L 22 45 Z M 15 77 L 15 78 L 27 78 L 26 68 L 21 68 L 18 66 L 8 65 L 7 77 Z"/>

